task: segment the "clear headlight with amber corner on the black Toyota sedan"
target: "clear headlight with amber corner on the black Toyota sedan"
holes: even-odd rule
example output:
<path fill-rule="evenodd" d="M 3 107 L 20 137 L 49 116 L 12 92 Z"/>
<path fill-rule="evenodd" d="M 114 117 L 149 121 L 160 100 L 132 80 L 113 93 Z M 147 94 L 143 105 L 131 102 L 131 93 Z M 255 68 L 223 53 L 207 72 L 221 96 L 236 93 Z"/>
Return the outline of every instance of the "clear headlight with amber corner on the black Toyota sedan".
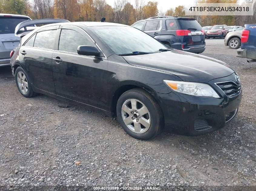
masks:
<path fill-rule="evenodd" d="M 214 89 L 211 88 L 211 86 L 209 86 L 208 84 L 172 80 L 163 81 L 169 88 L 179 93 L 193 96 L 220 98 L 216 91 L 214 91 Z"/>

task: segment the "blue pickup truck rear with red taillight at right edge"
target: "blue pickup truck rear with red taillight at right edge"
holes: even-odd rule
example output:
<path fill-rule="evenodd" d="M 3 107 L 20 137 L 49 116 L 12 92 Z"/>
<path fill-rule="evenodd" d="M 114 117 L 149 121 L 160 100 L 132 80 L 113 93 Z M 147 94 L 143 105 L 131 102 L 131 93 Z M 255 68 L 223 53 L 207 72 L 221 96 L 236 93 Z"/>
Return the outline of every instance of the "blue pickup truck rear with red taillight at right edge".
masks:
<path fill-rule="evenodd" d="M 242 31 L 241 48 L 237 49 L 237 57 L 249 58 L 247 62 L 256 62 L 256 24 L 246 24 Z"/>

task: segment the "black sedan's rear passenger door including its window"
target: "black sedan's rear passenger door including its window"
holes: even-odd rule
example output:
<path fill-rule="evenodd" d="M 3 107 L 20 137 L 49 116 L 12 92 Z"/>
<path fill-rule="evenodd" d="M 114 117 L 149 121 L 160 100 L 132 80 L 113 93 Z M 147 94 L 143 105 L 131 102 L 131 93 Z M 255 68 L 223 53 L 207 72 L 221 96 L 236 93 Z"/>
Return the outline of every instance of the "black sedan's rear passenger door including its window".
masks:
<path fill-rule="evenodd" d="M 38 31 L 19 50 L 19 59 L 35 88 L 55 94 L 52 75 L 52 54 L 57 28 Z"/>

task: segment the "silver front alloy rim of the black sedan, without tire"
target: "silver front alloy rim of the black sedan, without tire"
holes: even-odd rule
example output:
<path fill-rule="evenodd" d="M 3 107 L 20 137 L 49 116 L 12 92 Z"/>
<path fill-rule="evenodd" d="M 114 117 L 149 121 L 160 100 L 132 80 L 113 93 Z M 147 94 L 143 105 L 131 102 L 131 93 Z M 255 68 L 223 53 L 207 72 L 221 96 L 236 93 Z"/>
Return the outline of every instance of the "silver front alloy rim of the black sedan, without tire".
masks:
<path fill-rule="evenodd" d="M 135 133 L 145 133 L 151 125 L 148 108 L 137 99 L 126 100 L 122 106 L 125 125 Z"/>

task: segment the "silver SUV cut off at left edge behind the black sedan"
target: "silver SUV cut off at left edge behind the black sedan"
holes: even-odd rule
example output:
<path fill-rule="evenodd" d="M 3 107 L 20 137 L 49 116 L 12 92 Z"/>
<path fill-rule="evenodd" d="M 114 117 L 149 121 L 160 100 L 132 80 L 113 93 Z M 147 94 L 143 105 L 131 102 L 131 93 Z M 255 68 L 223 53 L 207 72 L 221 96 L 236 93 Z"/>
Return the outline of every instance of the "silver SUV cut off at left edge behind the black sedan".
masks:
<path fill-rule="evenodd" d="M 32 20 L 25 15 L 0 14 L 0 67 L 10 65 L 10 53 L 20 43 L 14 35 L 17 24 Z"/>

